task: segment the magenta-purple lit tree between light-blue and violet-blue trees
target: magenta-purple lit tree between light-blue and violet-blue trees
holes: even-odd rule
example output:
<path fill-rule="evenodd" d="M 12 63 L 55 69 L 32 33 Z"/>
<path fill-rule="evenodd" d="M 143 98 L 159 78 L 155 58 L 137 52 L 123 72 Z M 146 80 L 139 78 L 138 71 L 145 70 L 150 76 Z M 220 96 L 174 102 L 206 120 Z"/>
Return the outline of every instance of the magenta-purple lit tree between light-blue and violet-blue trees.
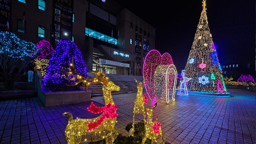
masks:
<path fill-rule="evenodd" d="M 49 59 L 54 52 L 52 45 L 47 40 L 41 40 L 36 44 L 36 47 L 42 48 L 40 55 L 36 57 L 37 59 Z"/>

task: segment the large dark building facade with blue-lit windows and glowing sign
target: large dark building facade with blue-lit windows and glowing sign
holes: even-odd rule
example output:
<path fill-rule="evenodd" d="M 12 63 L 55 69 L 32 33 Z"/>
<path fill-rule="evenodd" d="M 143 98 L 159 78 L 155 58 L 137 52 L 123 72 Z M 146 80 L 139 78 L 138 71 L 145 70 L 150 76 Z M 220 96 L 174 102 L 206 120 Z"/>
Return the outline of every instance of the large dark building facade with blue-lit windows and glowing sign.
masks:
<path fill-rule="evenodd" d="M 143 60 L 149 50 L 155 49 L 156 29 L 114 0 L 10 3 L 10 32 L 34 44 L 45 39 L 53 46 L 66 36 L 81 50 L 88 70 L 95 70 L 99 64 L 106 67 L 108 74 L 142 75 Z M 57 9 L 60 13 L 56 13 Z M 70 33 L 61 24 L 70 26 Z"/>

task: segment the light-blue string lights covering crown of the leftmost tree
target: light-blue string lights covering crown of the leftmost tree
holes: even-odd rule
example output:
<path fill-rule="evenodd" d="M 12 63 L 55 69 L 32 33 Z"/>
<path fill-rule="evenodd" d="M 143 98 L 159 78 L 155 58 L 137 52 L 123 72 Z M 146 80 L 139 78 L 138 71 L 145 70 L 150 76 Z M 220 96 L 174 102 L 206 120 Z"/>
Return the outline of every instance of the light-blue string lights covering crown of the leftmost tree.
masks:
<path fill-rule="evenodd" d="M 0 54 L 12 58 L 33 58 L 41 50 L 32 42 L 20 40 L 14 33 L 0 31 Z"/>

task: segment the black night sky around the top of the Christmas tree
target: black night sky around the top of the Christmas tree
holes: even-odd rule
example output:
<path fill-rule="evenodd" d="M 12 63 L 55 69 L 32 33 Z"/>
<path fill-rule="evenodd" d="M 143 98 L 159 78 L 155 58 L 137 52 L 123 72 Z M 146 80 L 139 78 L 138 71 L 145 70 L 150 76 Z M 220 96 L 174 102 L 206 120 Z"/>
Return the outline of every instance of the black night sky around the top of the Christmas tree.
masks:
<path fill-rule="evenodd" d="M 186 66 L 202 12 L 201 0 L 116 1 L 156 28 L 156 49 L 161 54 L 169 52 L 178 70 Z M 206 8 L 220 63 L 228 53 L 254 58 L 255 1 L 207 0 Z"/>

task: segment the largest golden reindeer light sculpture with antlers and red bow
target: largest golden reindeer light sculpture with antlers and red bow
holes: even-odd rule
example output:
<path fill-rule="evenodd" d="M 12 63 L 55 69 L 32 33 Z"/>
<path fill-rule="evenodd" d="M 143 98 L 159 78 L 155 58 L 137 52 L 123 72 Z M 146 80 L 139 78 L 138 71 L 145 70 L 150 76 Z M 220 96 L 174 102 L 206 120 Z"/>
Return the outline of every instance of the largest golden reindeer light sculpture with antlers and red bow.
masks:
<path fill-rule="evenodd" d="M 71 65 L 72 66 L 72 65 Z M 106 77 L 106 72 L 100 74 L 100 67 L 97 66 L 96 71 L 91 71 L 95 74 L 95 77 L 88 79 L 83 76 L 79 76 L 75 68 L 67 68 L 70 72 L 66 74 L 74 74 L 78 81 L 76 84 L 83 83 L 84 88 L 87 90 L 88 86 L 92 83 L 102 83 L 102 91 L 106 106 L 101 108 L 96 107 L 93 102 L 88 109 L 92 113 L 102 113 L 102 115 L 92 118 L 83 119 L 77 118 L 73 120 L 71 113 L 63 113 L 62 115 L 67 117 L 68 124 L 65 128 L 65 137 L 67 143 L 84 143 L 87 141 L 99 141 L 106 139 L 106 143 L 113 143 L 120 134 L 120 130 L 115 127 L 116 124 L 116 109 L 118 109 L 112 99 L 111 92 L 113 90 L 119 91 L 120 86 L 116 86 L 109 77 Z"/>

